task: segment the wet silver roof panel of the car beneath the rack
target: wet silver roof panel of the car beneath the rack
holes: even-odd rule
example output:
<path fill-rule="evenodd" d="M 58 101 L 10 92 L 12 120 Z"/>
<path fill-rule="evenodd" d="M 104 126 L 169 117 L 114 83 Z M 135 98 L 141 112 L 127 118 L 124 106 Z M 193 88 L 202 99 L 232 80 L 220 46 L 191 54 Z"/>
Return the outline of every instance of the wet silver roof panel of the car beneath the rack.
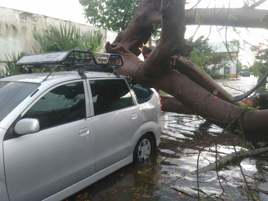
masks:
<path fill-rule="evenodd" d="M 13 81 L 13 82 L 31 82 L 31 83 L 40 83 L 42 82 L 49 73 L 31 73 L 31 74 L 22 74 L 15 75 L 10 77 L 5 77 L 0 79 L 0 81 Z M 125 76 L 120 76 L 114 73 L 104 73 L 104 72 L 90 72 L 87 71 L 82 75 L 79 75 L 77 71 L 68 71 L 68 72 L 53 72 L 45 82 L 54 82 L 54 81 L 68 81 L 75 79 L 85 79 L 85 78 L 117 78 Z"/>

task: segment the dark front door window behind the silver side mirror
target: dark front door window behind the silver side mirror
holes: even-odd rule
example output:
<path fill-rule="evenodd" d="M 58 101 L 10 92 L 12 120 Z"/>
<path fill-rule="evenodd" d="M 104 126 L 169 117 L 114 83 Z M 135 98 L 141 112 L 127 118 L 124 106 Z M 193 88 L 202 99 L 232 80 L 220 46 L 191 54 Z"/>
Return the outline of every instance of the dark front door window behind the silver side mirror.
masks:
<path fill-rule="evenodd" d="M 23 118 L 36 118 L 40 129 L 76 121 L 86 117 L 83 82 L 58 86 L 44 95 Z"/>

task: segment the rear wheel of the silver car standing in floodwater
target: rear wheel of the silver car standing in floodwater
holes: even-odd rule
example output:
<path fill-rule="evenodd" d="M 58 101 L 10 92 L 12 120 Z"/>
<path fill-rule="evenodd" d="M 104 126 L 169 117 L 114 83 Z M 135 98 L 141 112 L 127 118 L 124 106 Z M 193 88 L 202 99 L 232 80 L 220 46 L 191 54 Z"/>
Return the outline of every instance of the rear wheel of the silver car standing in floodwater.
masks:
<path fill-rule="evenodd" d="M 142 137 L 140 137 L 134 148 L 133 163 L 136 164 L 147 160 L 147 158 L 152 155 L 153 149 L 154 144 L 152 137 L 145 133 Z"/>

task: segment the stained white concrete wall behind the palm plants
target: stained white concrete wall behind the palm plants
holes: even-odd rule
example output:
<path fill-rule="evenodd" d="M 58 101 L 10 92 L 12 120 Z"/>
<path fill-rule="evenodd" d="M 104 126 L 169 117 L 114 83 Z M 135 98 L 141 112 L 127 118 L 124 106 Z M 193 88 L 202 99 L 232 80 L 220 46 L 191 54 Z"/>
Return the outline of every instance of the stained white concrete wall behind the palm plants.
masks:
<path fill-rule="evenodd" d="M 67 25 L 75 24 L 80 26 L 81 31 L 91 31 L 100 29 L 84 24 L 73 23 L 66 20 L 60 20 L 53 17 L 47 17 L 39 14 L 28 13 L 20 10 L 4 8 L 0 6 L 0 67 L 4 69 L 7 61 L 5 54 L 12 55 L 12 52 L 24 51 L 33 53 L 33 48 L 40 49 L 38 42 L 32 37 L 32 30 L 45 32 L 47 26 L 55 25 L 59 28 L 60 23 Z M 107 41 L 113 42 L 117 32 L 101 29 L 104 35 L 103 48 Z M 104 50 L 104 49 L 103 49 Z"/>

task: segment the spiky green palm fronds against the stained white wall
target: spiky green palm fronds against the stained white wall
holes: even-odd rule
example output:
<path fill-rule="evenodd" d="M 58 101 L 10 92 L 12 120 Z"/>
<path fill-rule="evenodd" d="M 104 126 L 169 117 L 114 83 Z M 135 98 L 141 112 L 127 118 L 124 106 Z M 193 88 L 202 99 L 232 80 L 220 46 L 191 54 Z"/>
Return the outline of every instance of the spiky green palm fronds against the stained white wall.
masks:
<path fill-rule="evenodd" d="M 71 49 L 86 50 L 91 48 L 88 43 L 93 44 L 93 51 L 99 51 L 102 47 L 104 37 L 100 30 L 81 32 L 80 27 L 76 28 L 75 25 L 71 24 L 68 27 L 66 24 L 60 24 L 59 27 L 58 29 L 55 25 L 50 25 L 46 33 L 32 31 L 33 38 L 40 44 L 40 49 L 38 51 L 34 50 L 35 53 L 68 51 Z M 21 52 L 16 55 L 14 52 L 12 56 L 6 55 L 6 72 L 0 70 L 0 78 L 20 74 L 20 66 L 17 66 L 16 63 L 24 54 L 24 52 Z M 55 69 L 55 71 L 63 70 L 62 68 Z M 49 72 L 50 69 L 33 69 L 33 71 L 41 73 Z"/>

